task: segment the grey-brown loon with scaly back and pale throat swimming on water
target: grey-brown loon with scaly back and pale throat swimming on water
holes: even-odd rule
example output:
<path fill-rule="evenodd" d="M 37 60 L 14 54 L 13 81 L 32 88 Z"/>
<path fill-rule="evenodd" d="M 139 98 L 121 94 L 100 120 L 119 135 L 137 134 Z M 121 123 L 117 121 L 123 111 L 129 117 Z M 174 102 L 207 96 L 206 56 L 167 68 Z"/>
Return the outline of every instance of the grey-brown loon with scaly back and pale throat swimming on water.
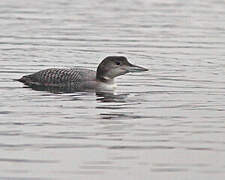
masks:
<path fill-rule="evenodd" d="M 107 91 L 115 89 L 115 77 L 140 71 L 148 71 L 148 69 L 131 64 L 124 56 L 108 56 L 98 65 L 97 72 L 75 67 L 50 68 L 23 76 L 18 81 L 30 87 Z"/>

